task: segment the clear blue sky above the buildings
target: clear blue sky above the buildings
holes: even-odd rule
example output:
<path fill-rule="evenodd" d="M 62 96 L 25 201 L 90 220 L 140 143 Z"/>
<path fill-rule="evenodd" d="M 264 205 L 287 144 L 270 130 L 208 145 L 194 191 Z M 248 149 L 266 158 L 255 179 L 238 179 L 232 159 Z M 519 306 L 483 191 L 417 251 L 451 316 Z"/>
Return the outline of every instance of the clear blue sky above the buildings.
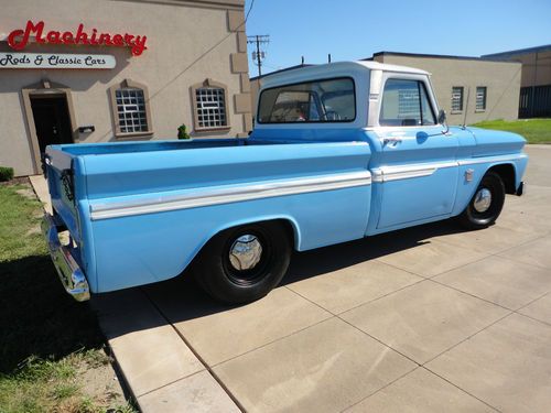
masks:
<path fill-rule="evenodd" d="M 262 73 L 301 56 L 325 63 L 327 53 L 333 62 L 380 51 L 479 56 L 550 44 L 551 0 L 255 0 L 247 34 L 270 35 Z"/>

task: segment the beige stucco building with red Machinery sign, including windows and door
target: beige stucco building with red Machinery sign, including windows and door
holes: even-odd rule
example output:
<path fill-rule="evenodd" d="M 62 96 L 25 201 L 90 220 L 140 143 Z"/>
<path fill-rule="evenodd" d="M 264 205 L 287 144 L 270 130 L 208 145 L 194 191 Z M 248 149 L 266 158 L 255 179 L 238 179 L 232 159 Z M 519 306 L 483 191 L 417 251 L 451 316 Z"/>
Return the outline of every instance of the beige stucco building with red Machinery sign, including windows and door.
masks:
<path fill-rule="evenodd" d="M 0 165 L 17 175 L 48 143 L 252 129 L 244 0 L 3 3 Z"/>

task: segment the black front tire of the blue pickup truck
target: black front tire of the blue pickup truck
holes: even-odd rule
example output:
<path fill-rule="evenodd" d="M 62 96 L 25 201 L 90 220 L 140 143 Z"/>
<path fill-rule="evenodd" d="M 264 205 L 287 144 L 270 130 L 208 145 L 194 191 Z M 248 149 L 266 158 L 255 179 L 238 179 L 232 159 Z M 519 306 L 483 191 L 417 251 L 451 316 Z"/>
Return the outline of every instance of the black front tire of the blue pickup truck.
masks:
<path fill-rule="evenodd" d="M 491 194 L 491 200 L 487 209 L 477 210 L 475 202 L 480 191 L 487 189 Z M 483 229 L 493 225 L 505 203 L 505 185 L 501 177 L 495 172 L 487 172 L 475 191 L 473 198 L 465 210 L 458 216 L 460 224 L 466 229 Z"/>

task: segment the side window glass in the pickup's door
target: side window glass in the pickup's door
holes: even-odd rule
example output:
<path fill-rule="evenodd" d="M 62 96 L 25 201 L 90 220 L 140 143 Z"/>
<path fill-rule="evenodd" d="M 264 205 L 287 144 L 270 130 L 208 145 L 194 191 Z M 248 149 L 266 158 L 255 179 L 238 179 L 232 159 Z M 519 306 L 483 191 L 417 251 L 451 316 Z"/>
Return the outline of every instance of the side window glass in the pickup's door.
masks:
<path fill-rule="evenodd" d="M 436 124 L 424 83 L 388 79 L 382 91 L 379 124 L 381 127 Z"/>

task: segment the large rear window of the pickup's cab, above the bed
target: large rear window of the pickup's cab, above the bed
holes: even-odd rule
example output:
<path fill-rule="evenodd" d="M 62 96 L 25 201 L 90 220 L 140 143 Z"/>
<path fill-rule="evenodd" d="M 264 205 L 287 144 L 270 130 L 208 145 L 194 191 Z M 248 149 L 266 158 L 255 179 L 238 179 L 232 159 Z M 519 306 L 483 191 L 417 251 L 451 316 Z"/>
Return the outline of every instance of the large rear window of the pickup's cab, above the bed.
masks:
<path fill-rule="evenodd" d="M 259 123 L 352 122 L 356 119 L 349 77 L 305 81 L 262 90 Z"/>

